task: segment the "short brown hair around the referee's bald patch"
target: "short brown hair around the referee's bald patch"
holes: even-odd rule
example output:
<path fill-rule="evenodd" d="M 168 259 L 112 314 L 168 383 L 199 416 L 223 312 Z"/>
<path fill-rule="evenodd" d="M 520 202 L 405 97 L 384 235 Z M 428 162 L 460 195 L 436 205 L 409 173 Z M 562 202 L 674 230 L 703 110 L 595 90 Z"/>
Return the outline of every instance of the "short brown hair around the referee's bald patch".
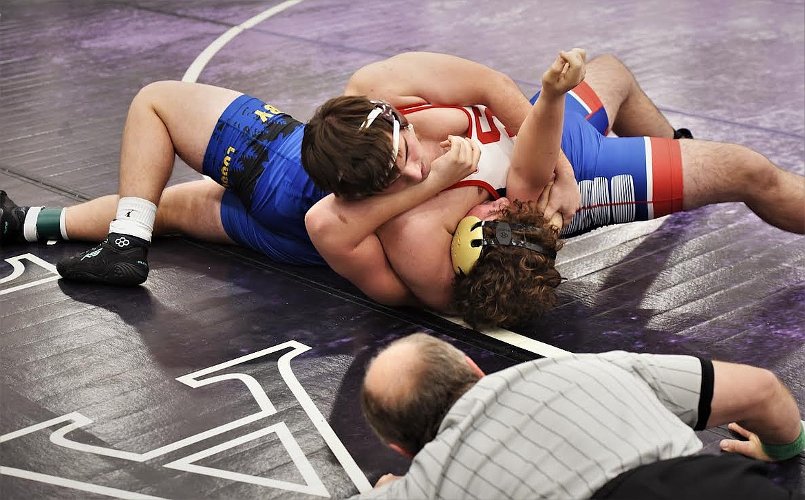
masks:
<path fill-rule="evenodd" d="M 478 374 L 465 362 L 464 353 L 427 333 L 403 337 L 386 349 L 408 342 L 415 343 L 418 356 L 415 368 L 403 374 L 410 378 L 403 382 L 410 390 L 403 397 L 388 398 L 367 390 L 364 383 L 361 407 L 384 443 L 398 444 L 415 455 L 436 437 L 444 415 L 478 382 Z"/>

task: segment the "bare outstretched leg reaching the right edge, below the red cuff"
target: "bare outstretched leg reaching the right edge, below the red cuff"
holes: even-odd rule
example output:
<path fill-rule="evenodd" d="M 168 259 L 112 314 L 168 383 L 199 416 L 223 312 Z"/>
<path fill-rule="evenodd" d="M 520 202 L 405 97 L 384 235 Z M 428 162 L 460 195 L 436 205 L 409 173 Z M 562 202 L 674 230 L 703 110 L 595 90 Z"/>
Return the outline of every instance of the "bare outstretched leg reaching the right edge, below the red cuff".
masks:
<path fill-rule="evenodd" d="M 805 178 L 782 170 L 748 147 L 708 141 L 679 141 L 683 209 L 743 201 L 764 221 L 805 233 Z"/>

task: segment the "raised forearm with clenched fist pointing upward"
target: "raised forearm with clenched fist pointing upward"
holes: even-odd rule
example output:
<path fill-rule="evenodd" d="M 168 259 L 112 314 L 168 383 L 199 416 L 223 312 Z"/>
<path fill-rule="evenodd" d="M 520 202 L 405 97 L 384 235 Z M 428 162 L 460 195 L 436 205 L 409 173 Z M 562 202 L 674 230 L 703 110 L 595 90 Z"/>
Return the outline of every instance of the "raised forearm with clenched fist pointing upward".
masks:
<path fill-rule="evenodd" d="M 506 195 L 536 200 L 551 180 L 556 192 L 577 192 L 572 167 L 561 149 L 564 96 L 584 79 L 583 49 L 560 52 L 543 74 L 543 91 L 522 123 L 511 155 Z M 572 180 L 572 183 L 568 182 Z M 568 188 L 569 184 L 569 188 Z M 563 213 L 566 221 L 572 214 Z"/>

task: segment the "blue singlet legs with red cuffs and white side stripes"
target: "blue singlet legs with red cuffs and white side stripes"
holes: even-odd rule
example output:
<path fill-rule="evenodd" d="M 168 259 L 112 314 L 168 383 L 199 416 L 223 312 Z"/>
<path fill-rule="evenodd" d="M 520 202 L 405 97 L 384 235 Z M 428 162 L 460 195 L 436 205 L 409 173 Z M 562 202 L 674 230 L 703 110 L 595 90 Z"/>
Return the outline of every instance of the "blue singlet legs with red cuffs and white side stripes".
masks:
<path fill-rule="evenodd" d="M 533 104 L 539 93 L 531 98 Z M 581 207 L 562 237 L 682 210 L 682 155 L 668 138 L 606 137 L 604 105 L 584 81 L 565 97 L 562 151 L 579 183 Z"/>

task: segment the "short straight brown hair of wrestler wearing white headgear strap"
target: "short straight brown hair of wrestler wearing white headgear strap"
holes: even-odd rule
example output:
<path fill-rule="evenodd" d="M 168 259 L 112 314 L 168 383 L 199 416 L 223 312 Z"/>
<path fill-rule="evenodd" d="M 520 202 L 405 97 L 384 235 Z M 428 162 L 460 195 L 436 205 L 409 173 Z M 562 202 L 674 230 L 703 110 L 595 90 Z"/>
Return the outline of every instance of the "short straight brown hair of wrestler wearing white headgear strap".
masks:
<path fill-rule="evenodd" d="M 399 176 L 390 167 L 392 126 L 375 120 L 361 129 L 375 105 L 365 96 L 334 97 L 305 126 L 302 166 L 313 184 L 351 200 L 382 192 Z"/>

